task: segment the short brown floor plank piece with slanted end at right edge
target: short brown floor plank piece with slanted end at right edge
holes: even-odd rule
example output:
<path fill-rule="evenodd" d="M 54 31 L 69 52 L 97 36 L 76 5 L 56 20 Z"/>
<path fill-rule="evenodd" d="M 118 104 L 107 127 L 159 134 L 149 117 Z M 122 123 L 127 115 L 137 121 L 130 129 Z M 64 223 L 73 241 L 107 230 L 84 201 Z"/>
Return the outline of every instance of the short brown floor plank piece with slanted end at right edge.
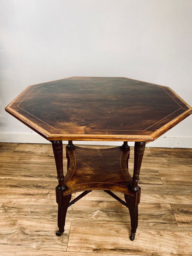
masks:
<path fill-rule="evenodd" d="M 171 208 L 179 227 L 192 228 L 192 205 L 171 204 Z"/>

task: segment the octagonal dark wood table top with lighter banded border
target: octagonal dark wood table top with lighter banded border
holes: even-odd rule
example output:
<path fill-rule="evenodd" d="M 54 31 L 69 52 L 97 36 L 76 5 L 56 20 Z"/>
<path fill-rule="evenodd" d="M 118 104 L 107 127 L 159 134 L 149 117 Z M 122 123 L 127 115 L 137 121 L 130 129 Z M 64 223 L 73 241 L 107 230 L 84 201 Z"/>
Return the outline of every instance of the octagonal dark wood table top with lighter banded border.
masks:
<path fill-rule="evenodd" d="M 124 77 L 31 85 L 5 110 L 50 141 L 149 142 L 192 113 L 169 87 Z"/>

